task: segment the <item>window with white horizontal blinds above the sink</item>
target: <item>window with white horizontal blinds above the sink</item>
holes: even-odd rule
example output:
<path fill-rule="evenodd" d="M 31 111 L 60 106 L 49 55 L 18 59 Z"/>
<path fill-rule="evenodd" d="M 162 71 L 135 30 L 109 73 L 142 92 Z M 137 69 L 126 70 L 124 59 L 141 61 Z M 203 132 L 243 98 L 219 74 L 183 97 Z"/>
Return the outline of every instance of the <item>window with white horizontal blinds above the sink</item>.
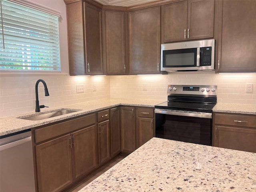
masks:
<path fill-rule="evenodd" d="M 60 13 L 28 0 L 0 6 L 0 70 L 60 72 Z"/>

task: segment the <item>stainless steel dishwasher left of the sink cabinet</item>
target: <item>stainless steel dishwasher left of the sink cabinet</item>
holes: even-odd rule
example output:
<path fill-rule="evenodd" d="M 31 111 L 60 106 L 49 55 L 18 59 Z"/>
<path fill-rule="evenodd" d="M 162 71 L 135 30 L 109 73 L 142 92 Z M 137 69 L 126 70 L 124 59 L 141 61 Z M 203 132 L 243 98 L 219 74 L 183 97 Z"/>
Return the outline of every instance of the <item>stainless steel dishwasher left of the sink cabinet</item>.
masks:
<path fill-rule="evenodd" d="M 31 131 L 0 138 L 0 191 L 35 190 Z"/>

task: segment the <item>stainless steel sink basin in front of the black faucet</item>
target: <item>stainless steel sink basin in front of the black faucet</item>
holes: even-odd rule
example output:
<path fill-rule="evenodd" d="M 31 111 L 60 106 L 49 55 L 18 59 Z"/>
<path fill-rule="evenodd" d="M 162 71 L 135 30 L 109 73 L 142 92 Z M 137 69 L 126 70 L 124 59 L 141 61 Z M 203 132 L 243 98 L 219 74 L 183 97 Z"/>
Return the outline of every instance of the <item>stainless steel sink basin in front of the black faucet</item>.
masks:
<path fill-rule="evenodd" d="M 51 118 L 51 117 L 65 115 L 65 114 L 69 114 L 69 113 L 73 113 L 73 112 L 77 112 L 77 111 L 79 111 L 79 110 L 63 110 L 62 109 L 62 110 L 49 112 L 49 113 L 45 113 L 45 114 L 33 115 L 33 116 L 29 116 L 29 117 L 18 117 L 18 118 L 19 119 L 37 121 L 37 120 L 48 119 L 48 118 Z"/>

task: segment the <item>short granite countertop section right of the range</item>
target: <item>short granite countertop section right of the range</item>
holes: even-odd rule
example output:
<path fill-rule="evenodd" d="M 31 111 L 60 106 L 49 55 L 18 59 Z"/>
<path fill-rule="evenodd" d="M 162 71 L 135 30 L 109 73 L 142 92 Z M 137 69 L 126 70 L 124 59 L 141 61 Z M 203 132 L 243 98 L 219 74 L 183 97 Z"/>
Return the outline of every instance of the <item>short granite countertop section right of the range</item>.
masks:
<path fill-rule="evenodd" d="M 223 113 L 239 113 L 239 114 L 252 114 L 256 115 L 256 104 L 228 104 L 228 103 L 217 103 L 213 112 L 223 112 Z"/>

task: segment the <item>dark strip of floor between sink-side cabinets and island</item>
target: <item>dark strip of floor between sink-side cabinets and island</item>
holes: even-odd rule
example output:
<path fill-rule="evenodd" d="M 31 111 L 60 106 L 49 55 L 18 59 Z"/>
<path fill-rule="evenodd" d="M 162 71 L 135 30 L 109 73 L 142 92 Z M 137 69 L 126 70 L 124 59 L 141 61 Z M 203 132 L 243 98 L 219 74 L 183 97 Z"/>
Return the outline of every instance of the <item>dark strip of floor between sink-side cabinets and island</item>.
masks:
<path fill-rule="evenodd" d="M 112 166 L 120 162 L 122 159 L 124 159 L 128 154 L 119 154 L 114 159 L 110 160 L 107 164 L 104 166 L 98 168 L 95 172 L 88 175 L 86 178 L 81 180 L 76 186 L 73 188 L 69 188 L 68 190 L 64 190 L 64 192 L 78 192 L 80 189 L 84 188 L 87 184 L 89 184 L 91 181 L 96 179 L 98 176 L 100 176 L 102 173 L 106 172 L 106 170 L 110 169 Z"/>

